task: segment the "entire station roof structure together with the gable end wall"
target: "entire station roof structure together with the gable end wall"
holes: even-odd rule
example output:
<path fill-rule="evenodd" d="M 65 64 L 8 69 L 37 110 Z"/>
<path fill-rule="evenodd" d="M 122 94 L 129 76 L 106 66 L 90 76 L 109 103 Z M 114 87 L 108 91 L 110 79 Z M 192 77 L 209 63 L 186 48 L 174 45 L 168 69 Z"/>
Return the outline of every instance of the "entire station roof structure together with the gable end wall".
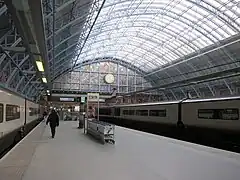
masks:
<path fill-rule="evenodd" d="M 167 100 L 240 94 L 239 0 L 28 1 L 38 13 L 4 2 L 0 86 L 24 97 L 112 89 Z M 22 51 L 32 48 L 30 37 L 42 59 Z M 44 73 L 36 73 L 37 60 Z M 113 83 L 104 81 L 108 73 Z"/>

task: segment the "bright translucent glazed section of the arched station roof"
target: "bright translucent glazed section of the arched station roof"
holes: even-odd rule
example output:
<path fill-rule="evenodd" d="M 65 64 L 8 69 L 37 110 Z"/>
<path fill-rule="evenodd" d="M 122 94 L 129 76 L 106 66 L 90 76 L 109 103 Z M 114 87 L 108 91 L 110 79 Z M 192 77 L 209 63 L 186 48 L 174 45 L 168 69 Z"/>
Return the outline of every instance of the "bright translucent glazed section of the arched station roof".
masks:
<path fill-rule="evenodd" d="M 113 57 L 151 71 L 240 31 L 231 0 L 106 0 L 77 63 Z"/>

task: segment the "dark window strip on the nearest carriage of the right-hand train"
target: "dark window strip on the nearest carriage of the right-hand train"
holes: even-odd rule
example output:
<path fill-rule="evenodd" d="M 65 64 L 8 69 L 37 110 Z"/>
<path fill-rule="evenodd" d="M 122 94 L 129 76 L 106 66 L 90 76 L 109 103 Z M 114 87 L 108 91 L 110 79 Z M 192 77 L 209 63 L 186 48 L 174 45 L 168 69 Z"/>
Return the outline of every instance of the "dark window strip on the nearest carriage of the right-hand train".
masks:
<path fill-rule="evenodd" d="M 239 110 L 238 109 L 199 109 L 198 118 L 238 120 Z"/>

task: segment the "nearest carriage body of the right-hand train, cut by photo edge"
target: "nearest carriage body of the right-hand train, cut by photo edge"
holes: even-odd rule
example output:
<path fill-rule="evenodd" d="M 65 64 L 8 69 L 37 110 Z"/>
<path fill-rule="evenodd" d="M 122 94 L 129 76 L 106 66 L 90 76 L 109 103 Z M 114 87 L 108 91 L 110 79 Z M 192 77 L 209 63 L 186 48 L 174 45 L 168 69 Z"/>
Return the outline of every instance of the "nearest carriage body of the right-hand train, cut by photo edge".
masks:
<path fill-rule="evenodd" d="M 186 100 L 182 117 L 187 126 L 239 131 L 240 97 Z"/>

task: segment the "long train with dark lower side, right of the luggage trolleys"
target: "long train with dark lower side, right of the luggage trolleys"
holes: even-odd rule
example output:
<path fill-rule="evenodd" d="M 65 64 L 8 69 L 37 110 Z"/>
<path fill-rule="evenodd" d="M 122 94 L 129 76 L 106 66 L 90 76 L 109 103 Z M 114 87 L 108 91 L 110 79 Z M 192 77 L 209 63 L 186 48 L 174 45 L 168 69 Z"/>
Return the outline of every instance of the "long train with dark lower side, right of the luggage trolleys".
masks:
<path fill-rule="evenodd" d="M 240 96 L 102 106 L 99 119 L 176 139 L 240 144 Z"/>

